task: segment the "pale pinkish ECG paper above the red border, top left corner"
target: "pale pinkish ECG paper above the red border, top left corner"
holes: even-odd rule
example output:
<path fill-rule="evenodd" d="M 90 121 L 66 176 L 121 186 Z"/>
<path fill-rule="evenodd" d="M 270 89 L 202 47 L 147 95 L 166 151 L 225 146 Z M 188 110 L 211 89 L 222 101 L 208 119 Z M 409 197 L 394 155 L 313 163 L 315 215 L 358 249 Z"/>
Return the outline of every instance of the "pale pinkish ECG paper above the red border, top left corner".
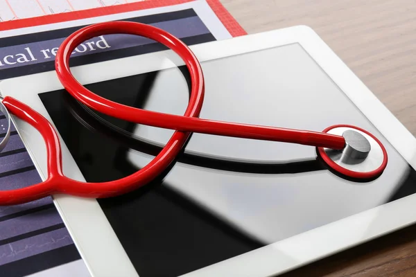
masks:
<path fill-rule="evenodd" d="M 27 0 L 29 1 L 29 0 Z M 0 0 L 0 21 L 10 21 L 43 15 L 55 15 L 63 12 L 86 10 L 89 8 L 101 8 L 126 3 L 149 0 L 30 0 L 33 6 L 22 5 L 20 0 Z"/>

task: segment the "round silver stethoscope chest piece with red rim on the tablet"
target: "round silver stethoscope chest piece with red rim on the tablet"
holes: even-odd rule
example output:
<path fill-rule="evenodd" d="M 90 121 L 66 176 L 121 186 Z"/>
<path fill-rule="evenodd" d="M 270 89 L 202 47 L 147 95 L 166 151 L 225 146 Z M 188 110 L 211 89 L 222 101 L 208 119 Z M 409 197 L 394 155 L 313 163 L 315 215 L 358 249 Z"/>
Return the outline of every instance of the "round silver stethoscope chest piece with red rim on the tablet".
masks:
<path fill-rule="evenodd" d="M 387 165 L 387 152 L 370 132 L 351 125 L 335 125 L 323 132 L 345 138 L 343 150 L 318 148 L 320 157 L 332 170 L 358 179 L 374 179 L 381 175 Z"/>

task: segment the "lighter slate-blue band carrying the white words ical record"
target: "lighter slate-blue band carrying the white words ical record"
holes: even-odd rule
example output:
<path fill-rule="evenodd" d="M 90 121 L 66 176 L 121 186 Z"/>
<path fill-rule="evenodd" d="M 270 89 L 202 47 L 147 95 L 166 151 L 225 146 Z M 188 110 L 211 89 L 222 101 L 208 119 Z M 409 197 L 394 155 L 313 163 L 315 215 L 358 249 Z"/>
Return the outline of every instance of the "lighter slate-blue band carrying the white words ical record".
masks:
<path fill-rule="evenodd" d="M 209 33 L 209 30 L 199 17 L 175 19 L 150 25 L 166 30 L 178 38 L 193 37 Z M 186 28 L 184 28 L 184 26 L 186 26 Z M 64 39 L 65 37 L 61 37 L 43 42 L 31 42 L 0 48 L 0 70 L 17 66 L 26 66 L 29 64 L 50 62 L 51 60 L 54 60 L 56 51 L 58 51 L 58 47 L 62 44 Z M 152 39 L 139 37 L 137 35 L 105 35 L 83 42 L 83 44 L 80 44 L 80 46 L 73 51 L 71 57 L 103 53 L 105 51 L 114 51 L 154 42 L 155 41 Z"/>

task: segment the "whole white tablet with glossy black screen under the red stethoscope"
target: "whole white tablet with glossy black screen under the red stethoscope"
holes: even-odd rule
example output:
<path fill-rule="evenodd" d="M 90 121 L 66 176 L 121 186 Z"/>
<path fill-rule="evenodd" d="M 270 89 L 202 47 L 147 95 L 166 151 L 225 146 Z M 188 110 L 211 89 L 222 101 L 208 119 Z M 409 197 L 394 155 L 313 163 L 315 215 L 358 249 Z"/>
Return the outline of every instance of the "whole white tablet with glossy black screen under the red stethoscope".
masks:
<path fill-rule="evenodd" d="M 193 134 L 170 170 L 133 193 L 55 195 L 92 276 L 272 276 L 415 222 L 415 138 L 313 30 L 296 26 L 191 48 L 205 74 L 201 118 L 318 132 L 355 125 L 383 143 L 388 165 L 358 182 L 334 174 L 309 146 Z M 181 114 L 189 97 L 182 64 L 162 51 L 72 71 L 106 98 Z M 130 175 L 173 133 L 92 116 L 54 71 L 5 80 L 0 90 L 51 120 L 73 179 Z M 15 123 L 46 176 L 42 137 Z"/>

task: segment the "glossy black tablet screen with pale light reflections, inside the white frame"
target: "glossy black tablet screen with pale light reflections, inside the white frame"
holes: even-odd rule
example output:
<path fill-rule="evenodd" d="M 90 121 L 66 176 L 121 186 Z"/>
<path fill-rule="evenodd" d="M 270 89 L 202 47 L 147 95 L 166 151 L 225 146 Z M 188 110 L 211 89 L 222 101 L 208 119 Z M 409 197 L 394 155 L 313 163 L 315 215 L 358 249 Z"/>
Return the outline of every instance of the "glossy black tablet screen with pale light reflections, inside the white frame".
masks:
<path fill-rule="evenodd" d="M 308 146 L 193 134 L 159 179 L 98 200 L 140 276 L 186 274 L 416 192 L 415 171 L 300 45 L 202 67 L 202 118 L 316 131 L 354 124 L 381 138 L 390 162 L 379 179 L 354 183 L 324 168 Z M 125 105 L 182 114 L 188 82 L 181 68 L 87 88 Z M 120 179 L 143 168 L 173 133 L 100 115 L 123 129 L 121 135 L 65 91 L 40 98 L 87 181 Z"/>

